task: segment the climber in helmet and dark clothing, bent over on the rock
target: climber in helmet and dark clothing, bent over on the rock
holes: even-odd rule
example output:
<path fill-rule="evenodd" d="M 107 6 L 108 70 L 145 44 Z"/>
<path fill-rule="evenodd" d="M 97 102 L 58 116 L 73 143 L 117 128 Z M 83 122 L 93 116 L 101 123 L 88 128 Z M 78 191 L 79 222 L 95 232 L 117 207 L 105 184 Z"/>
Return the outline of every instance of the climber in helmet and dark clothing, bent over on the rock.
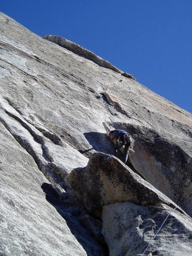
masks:
<path fill-rule="evenodd" d="M 129 148 L 132 143 L 132 138 L 131 136 L 124 130 L 108 130 L 107 131 L 108 137 L 110 137 L 111 141 L 115 140 L 116 145 L 115 145 L 115 152 L 114 156 L 117 154 L 117 149 L 121 148 L 123 145 L 125 145 L 124 149 L 124 154 L 123 154 L 123 162 L 126 164 L 128 160 L 128 153 L 129 153 Z"/>

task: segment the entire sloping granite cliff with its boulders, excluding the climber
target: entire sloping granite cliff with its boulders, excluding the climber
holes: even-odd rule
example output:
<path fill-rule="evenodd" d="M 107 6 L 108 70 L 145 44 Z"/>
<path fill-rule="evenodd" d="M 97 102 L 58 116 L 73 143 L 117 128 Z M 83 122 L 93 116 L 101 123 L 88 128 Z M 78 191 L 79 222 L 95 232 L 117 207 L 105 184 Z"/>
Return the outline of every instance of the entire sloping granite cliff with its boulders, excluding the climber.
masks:
<path fill-rule="evenodd" d="M 191 255 L 191 113 L 51 38 L 0 13 L 0 254 L 142 255 L 178 205 L 146 255 Z"/>

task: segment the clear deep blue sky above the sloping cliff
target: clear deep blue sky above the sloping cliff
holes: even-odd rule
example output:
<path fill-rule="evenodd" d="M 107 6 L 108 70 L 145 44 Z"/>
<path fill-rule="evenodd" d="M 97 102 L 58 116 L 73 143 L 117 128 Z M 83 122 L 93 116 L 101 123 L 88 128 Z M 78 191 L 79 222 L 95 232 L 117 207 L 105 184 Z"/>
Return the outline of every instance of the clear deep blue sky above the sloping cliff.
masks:
<path fill-rule="evenodd" d="M 192 0 L 2 0 L 37 35 L 60 35 L 192 112 Z"/>

